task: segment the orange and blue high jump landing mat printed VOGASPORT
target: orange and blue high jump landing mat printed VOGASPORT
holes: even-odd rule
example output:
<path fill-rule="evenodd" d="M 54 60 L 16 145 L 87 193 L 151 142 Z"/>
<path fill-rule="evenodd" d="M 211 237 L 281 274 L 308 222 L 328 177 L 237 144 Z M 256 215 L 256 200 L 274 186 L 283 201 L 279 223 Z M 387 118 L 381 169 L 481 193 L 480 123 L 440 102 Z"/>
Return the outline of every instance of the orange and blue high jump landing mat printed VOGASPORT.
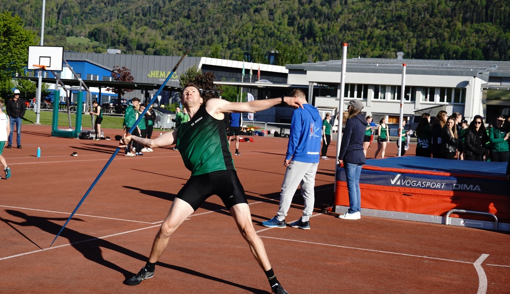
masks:
<path fill-rule="evenodd" d="M 368 159 L 360 176 L 362 215 L 510 231 L 506 164 L 419 156 Z M 335 211 L 349 207 L 343 167 Z"/>

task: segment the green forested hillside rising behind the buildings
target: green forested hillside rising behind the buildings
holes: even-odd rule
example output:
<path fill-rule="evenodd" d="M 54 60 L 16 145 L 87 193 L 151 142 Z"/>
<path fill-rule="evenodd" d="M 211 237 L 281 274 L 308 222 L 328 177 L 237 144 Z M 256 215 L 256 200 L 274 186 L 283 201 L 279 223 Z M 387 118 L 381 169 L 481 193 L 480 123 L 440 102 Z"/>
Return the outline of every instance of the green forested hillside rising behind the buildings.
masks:
<path fill-rule="evenodd" d="M 40 34 L 41 2 L 2 0 Z M 510 60 L 510 0 L 46 0 L 45 45 L 277 64 L 349 57 Z M 83 43 L 67 37 L 84 37 Z M 88 39 L 87 39 L 88 38 Z"/>

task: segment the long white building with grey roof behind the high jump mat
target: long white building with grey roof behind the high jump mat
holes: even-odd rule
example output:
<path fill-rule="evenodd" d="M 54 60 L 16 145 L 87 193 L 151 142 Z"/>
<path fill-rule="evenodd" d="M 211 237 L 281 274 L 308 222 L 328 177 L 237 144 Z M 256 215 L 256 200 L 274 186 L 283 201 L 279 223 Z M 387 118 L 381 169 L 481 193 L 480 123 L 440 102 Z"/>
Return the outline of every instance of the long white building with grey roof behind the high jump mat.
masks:
<path fill-rule="evenodd" d="M 397 122 L 400 113 L 402 67 L 405 64 L 403 112 L 407 120 L 415 112 L 443 106 L 448 114 L 461 113 L 468 121 L 475 115 L 493 120 L 510 111 L 510 62 L 404 59 L 348 59 L 344 99 L 358 98 L 364 112 L 377 123 L 382 116 Z M 288 84 L 310 88 L 328 85 L 340 89 L 342 61 L 287 65 Z M 497 89 L 498 94 L 491 91 Z M 309 93 L 315 92 L 309 91 Z M 494 96 L 494 97 L 492 97 Z M 499 97 L 496 97 L 499 96 Z M 315 96 L 319 109 L 336 112 L 336 97 Z M 497 100 L 497 101 L 496 101 Z"/>

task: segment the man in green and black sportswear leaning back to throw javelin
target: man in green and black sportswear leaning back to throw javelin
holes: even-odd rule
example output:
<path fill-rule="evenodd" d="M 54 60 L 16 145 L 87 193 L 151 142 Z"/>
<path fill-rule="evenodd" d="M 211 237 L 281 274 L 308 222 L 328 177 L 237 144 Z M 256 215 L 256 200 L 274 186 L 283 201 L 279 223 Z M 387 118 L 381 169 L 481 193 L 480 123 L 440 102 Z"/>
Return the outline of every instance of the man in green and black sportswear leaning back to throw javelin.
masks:
<path fill-rule="evenodd" d="M 183 106 L 191 118 L 188 123 L 156 139 L 124 135 L 121 144 L 134 141 L 149 148 L 157 148 L 176 143 L 184 165 L 191 171 L 191 177 L 177 193 L 168 216 L 156 234 L 146 265 L 138 274 L 126 280 L 128 285 L 138 285 L 154 276 L 156 262 L 167 247 L 170 235 L 207 198 L 216 194 L 230 210 L 253 256 L 264 270 L 272 291 L 277 294 L 288 294 L 276 279 L 262 239 L 253 228 L 246 195 L 228 149 L 223 120 L 224 113 L 256 113 L 283 102 L 296 108 L 302 107 L 302 102 L 298 98 L 284 96 L 242 103 L 210 99 L 204 103 L 198 87 L 188 83 L 182 92 Z"/>

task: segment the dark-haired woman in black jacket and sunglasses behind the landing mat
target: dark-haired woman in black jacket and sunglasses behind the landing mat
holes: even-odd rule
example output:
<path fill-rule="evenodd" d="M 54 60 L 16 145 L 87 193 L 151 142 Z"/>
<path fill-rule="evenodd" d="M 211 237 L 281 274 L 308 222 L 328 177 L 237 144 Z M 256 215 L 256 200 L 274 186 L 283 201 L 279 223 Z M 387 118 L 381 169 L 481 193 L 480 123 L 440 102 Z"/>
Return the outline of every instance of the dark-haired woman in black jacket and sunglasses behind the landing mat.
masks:
<path fill-rule="evenodd" d="M 466 154 L 465 160 L 483 161 L 483 155 L 486 151 L 486 144 L 489 142 L 489 136 L 487 136 L 481 116 L 475 115 L 473 121 L 469 124 L 464 140 L 466 147 L 464 151 Z"/>

